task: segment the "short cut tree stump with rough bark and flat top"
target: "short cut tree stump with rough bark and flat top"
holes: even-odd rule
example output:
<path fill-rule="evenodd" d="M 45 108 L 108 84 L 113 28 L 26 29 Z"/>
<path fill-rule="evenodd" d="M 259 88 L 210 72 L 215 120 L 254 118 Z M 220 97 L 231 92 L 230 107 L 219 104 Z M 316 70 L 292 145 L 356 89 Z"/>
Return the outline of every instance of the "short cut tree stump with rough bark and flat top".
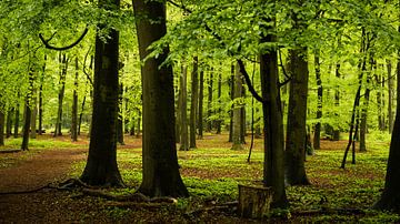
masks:
<path fill-rule="evenodd" d="M 271 187 L 244 186 L 239 184 L 238 212 L 241 217 L 261 218 L 270 211 Z"/>

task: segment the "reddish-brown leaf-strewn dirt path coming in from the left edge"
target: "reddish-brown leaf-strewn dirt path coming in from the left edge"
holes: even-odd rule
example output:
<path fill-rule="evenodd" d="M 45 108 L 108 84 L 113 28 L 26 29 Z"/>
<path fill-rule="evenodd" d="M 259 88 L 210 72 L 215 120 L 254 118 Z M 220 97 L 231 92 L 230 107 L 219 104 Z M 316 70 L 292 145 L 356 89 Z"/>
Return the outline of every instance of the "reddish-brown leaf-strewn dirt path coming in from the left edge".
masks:
<path fill-rule="evenodd" d="M 87 149 L 40 150 L 26 160 L 0 169 L 0 192 L 29 191 L 66 179 L 74 162 L 87 157 Z M 26 152 L 1 154 L 4 157 L 24 156 Z"/>

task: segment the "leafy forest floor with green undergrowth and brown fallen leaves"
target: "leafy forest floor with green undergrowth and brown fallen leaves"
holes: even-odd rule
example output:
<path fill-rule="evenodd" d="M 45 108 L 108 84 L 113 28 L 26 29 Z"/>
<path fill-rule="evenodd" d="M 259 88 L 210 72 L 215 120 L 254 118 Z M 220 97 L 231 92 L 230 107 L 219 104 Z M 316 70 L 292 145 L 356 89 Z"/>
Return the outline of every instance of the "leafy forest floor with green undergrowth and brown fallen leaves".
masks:
<path fill-rule="evenodd" d="M 19 143 L 18 139 L 8 140 L 0 151 L 18 149 Z M 383 186 L 387 141 L 377 141 L 368 153 L 358 153 L 357 165 L 348 163 L 346 170 L 339 165 L 347 142 L 322 141 L 322 149 L 308 156 L 306 163 L 312 185 L 288 187 L 290 210 L 273 211 L 271 217 L 262 221 L 240 218 L 232 208 L 218 208 L 219 204 L 237 200 L 238 183 L 261 179 L 261 140 L 256 140 L 250 164 L 246 162 L 248 151 L 229 150 L 227 135 L 206 135 L 198 141 L 198 150 L 179 152 L 181 174 L 191 196 L 177 204 L 120 206 L 79 190 L 41 189 L 78 177 L 84 167 L 88 143 L 87 138 L 71 143 L 69 136 L 42 135 L 31 141 L 28 152 L 0 153 L 0 223 L 400 222 L 397 214 L 369 208 Z M 141 180 L 140 139 L 126 136 L 126 145 L 119 145 L 118 160 L 130 187 L 106 192 L 132 193 Z"/>

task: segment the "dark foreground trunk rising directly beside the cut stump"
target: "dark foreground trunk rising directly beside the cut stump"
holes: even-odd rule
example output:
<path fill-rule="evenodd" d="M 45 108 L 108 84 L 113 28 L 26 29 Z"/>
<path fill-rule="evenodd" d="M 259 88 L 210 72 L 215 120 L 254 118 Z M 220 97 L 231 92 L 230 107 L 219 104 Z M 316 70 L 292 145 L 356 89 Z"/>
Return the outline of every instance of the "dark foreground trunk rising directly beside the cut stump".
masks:
<path fill-rule="evenodd" d="M 274 20 L 273 20 L 274 22 Z M 261 42 L 276 42 L 274 35 L 267 35 Z M 283 119 L 279 89 L 277 49 L 260 55 L 260 75 L 263 113 L 263 184 L 273 190 L 271 207 L 289 205 L 284 190 Z"/>

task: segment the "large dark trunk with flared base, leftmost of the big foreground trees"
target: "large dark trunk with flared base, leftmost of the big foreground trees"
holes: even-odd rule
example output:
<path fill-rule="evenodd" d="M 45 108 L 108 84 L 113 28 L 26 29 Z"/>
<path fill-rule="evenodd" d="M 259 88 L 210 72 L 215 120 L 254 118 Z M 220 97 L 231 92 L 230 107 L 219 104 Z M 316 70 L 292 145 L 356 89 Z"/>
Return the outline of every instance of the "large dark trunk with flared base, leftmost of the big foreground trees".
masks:
<path fill-rule="evenodd" d="M 100 10 L 117 10 L 119 0 L 100 0 Z M 100 26 L 103 28 L 104 26 Z M 93 113 L 90 132 L 89 155 L 80 177 L 97 186 L 123 185 L 117 165 L 118 115 L 118 44 L 119 33 L 111 29 L 103 42 L 96 35 Z"/>

